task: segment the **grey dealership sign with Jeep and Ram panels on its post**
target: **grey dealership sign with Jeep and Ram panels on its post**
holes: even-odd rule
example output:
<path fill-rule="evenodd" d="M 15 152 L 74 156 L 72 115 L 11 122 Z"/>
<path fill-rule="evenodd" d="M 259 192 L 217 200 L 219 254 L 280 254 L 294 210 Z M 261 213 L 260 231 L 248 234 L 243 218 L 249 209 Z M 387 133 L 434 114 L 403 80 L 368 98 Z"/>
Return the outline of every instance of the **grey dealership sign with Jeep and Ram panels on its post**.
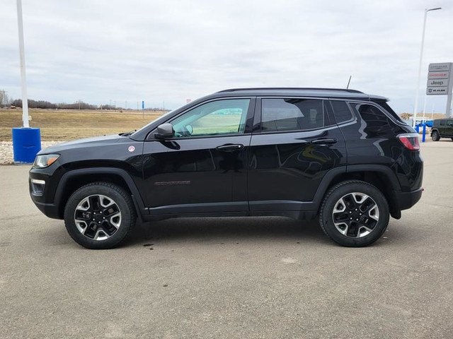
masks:
<path fill-rule="evenodd" d="M 430 64 L 426 95 L 447 95 L 445 115 L 452 115 L 453 68 L 451 62 Z"/>

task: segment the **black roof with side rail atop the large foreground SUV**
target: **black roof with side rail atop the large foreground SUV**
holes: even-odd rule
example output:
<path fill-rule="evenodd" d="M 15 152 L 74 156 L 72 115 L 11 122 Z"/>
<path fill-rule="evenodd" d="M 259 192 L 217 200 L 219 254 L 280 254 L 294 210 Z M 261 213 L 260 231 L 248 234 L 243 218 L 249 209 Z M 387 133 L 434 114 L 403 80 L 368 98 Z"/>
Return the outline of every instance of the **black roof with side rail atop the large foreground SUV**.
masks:
<path fill-rule="evenodd" d="M 221 90 L 217 93 L 209 95 L 209 97 L 225 97 L 225 96 L 298 96 L 298 97 L 333 97 L 333 98 L 348 98 L 360 100 L 386 100 L 386 97 L 379 95 L 369 95 L 360 90 L 350 90 L 347 88 L 231 88 L 229 90 Z"/>

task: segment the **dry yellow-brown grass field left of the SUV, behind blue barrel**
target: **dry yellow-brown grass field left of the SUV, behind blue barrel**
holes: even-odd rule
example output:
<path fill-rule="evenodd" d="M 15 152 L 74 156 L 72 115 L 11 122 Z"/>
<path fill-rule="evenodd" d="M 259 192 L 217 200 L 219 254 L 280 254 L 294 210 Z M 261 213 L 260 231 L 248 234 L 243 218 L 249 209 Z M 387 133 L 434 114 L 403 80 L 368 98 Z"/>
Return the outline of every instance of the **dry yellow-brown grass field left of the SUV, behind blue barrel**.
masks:
<path fill-rule="evenodd" d="M 30 109 L 31 127 L 41 129 L 42 141 L 67 141 L 139 129 L 164 112 L 74 111 Z M 0 109 L 0 141 L 11 141 L 11 129 L 22 126 L 21 109 Z"/>

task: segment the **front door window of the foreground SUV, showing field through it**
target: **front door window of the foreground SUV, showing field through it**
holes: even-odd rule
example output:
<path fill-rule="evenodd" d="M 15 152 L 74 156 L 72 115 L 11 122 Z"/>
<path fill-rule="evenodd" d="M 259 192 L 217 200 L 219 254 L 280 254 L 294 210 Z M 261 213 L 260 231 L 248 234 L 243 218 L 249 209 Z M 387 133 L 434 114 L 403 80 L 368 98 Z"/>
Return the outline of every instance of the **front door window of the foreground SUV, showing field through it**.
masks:
<path fill-rule="evenodd" d="M 250 99 L 207 102 L 177 117 L 171 124 L 176 137 L 243 133 Z"/>

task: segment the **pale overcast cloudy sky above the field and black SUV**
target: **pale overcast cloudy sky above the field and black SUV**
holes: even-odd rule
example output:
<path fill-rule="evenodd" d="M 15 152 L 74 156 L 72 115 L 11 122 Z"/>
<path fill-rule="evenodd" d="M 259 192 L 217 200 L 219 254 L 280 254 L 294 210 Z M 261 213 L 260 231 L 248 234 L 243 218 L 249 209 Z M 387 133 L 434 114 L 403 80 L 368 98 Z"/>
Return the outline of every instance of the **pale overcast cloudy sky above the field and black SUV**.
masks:
<path fill-rule="evenodd" d="M 22 0 L 28 97 L 175 109 L 239 87 L 350 88 L 411 112 L 453 61 L 451 0 Z M 0 0 L 0 89 L 21 96 L 16 0 Z M 420 90 L 424 93 L 424 89 Z M 436 112 L 446 96 L 428 97 Z M 423 96 L 420 99 L 423 108 Z"/>

